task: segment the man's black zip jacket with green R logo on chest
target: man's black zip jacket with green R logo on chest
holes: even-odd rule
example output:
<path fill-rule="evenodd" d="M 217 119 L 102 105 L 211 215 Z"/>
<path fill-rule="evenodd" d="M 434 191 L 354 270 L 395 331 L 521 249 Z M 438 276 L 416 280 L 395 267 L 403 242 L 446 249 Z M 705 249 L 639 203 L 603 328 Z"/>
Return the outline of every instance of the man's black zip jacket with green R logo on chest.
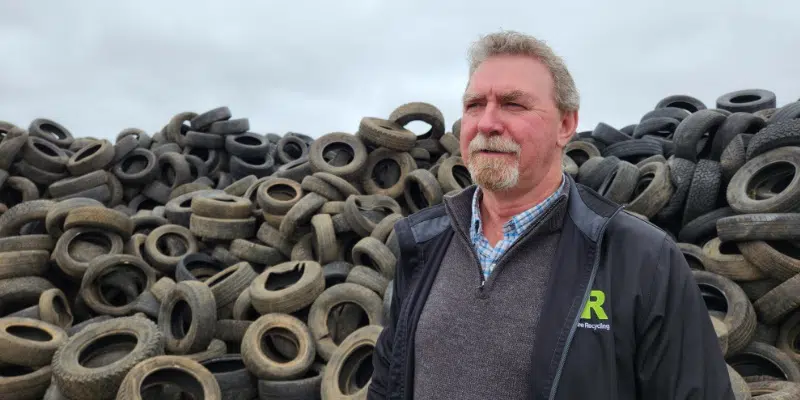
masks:
<path fill-rule="evenodd" d="M 569 178 L 527 398 L 733 399 L 708 310 L 664 231 Z M 400 256 L 368 399 L 411 399 L 414 335 L 453 238 L 447 201 L 395 225 Z"/>

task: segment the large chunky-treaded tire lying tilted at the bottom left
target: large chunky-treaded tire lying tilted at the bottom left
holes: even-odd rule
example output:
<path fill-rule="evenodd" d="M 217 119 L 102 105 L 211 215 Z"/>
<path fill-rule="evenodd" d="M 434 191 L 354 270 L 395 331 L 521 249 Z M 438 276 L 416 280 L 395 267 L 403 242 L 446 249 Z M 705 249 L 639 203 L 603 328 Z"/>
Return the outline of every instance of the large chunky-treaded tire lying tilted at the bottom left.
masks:
<path fill-rule="evenodd" d="M 117 341 L 110 340 L 114 336 Z M 135 344 L 131 343 L 130 336 L 136 337 Z M 95 351 L 81 354 L 87 353 L 84 349 L 92 343 L 96 345 Z M 92 366 L 93 359 L 108 357 L 109 354 L 102 349 L 109 346 L 130 351 L 115 357 L 116 361 L 107 365 L 91 369 L 83 366 Z M 52 364 L 53 380 L 68 398 L 112 400 L 128 372 L 139 362 L 163 354 L 163 348 L 161 332 L 146 318 L 120 317 L 94 323 L 75 333 L 56 350 Z M 79 356 L 85 357 L 81 360 L 83 365 Z"/>

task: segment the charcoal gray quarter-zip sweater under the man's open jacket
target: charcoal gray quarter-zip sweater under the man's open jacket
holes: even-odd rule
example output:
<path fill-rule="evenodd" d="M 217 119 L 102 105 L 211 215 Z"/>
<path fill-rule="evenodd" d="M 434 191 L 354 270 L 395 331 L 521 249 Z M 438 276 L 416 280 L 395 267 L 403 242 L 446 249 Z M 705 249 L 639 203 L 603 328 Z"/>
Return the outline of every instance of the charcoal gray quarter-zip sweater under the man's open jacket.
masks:
<path fill-rule="evenodd" d="M 484 287 L 469 240 L 472 190 L 446 197 L 455 235 L 415 337 L 414 399 L 521 399 L 565 193 L 503 255 Z"/>

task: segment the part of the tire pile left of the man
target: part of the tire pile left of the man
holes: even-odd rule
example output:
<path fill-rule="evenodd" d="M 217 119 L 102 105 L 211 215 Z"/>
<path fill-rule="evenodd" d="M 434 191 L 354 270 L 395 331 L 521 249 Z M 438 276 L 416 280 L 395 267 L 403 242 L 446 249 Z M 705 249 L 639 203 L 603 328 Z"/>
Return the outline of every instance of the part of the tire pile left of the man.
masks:
<path fill-rule="evenodd" d="M 459 126 L 421 102 L 316 139 L 227 107 L 114 143 L 0 122 L 0 398 L 365 398 L 393 224 L 471 184 Z"/>

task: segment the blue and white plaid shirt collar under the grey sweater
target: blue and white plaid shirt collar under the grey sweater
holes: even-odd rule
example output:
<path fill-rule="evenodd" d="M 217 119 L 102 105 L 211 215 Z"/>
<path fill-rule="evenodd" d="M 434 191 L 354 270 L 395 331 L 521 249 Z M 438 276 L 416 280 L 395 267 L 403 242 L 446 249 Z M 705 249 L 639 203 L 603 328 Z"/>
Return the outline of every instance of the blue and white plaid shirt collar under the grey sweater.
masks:
<path fill-rule="evenodd" d="M 528 229 L 537 217 L 542 215 L 549 205 L 551 205 L 558 195 L 564 191 L 564 186 L 567 180 L 561 181 L 561 186 L 550 197 L 546 198 L 541 203 L 511 217 L 508 222 L 503 225 L 503 238 L 497 242 L 494 248 L 489 244 L 489 241 L 483 235 L 483 225 L 481 224 L 481 209 L 479 205 L 480 188 L 475 191 L 472 197 L 472 229 L 470 236 L 472 239 L 472 246 L 478 254 L 478 261 L 481 263 L 481 270 L 483 271 L 483 284 L 492 273 L 497 260 L 500 256 L 508 250 L 517 239 L 522 236 L 526 229 Z"/>

